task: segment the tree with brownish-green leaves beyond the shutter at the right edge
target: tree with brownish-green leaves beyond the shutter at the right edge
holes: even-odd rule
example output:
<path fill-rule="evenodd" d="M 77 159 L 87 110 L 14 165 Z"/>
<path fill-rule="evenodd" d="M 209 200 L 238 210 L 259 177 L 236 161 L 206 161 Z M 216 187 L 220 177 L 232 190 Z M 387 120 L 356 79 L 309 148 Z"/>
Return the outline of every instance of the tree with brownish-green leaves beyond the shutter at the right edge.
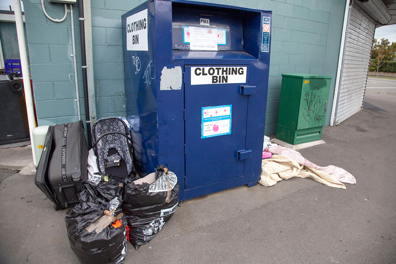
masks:
<path fill-rule="evenodd" d="M 396 43 L 389 42 L 388 39 L 381 39 L 381 41 L 377 41 L 377 39 L 373 40 L 373 48 L 371 50 L 371 61 L 370 64 L 376 68 L 377 76 L 378 69 L 384 64 L 387 60 L 393 60 L 395 58 L 396 52 Z"/>

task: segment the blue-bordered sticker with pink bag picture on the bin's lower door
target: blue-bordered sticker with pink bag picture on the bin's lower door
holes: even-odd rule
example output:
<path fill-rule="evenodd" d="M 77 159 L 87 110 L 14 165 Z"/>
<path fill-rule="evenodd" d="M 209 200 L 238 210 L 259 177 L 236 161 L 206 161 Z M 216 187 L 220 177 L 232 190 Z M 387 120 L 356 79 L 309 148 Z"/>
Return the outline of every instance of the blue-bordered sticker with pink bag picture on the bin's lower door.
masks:
<path fill-rule="evenodd" d="M 201 138 L 231 134 L 232 105 L 202 107 Z"/>

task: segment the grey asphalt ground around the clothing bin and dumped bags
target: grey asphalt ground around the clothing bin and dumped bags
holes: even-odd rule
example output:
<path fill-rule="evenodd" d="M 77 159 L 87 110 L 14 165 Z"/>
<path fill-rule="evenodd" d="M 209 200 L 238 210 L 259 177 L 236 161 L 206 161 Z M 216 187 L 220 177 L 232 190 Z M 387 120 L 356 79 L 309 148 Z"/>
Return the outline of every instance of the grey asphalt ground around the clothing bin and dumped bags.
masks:
<path fill-rule="evenodd" d="M 185 201 L 148 245 L 128 247 L 125 263 L 395 263 L 396 82 L 369 78 L 367 87 L 370 109 L 325 127 L 326 144 L 299 150 L 343 167 L 356 185 L 292 178 Z M 29 159 L 30 149 L 15 149 Z M 12 166 L 2 151 L 0 168 Z M 1 182 L 0 211 L 0 263 L 77 263 L 67 211 L 54 211 L 33 176 Z"/>

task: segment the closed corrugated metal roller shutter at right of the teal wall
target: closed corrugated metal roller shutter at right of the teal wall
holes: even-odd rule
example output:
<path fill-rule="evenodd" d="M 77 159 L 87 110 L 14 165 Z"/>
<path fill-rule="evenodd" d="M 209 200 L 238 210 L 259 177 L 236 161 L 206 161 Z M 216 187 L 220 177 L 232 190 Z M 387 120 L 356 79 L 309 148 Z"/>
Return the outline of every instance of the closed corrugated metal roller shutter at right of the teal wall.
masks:
<path fill-rule="evenodd" d="M 363 105 L 375 32 L 374 19 L 360 6 L 353 3 L 350 12 L 336 124 L 358 112 Z"/>

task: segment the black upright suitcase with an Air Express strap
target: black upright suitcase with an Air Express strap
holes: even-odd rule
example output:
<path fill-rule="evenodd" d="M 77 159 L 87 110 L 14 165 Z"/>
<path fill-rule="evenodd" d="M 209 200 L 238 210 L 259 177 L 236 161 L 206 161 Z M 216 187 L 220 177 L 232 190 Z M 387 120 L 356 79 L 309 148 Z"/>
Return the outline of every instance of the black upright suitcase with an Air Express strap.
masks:
<path fill-rule="evenodd" d="M 36 185 L 57 209 L 78 204 L 81 182 L 87 180 L 88 148 L 82 121 L 49 127 Z"/>

